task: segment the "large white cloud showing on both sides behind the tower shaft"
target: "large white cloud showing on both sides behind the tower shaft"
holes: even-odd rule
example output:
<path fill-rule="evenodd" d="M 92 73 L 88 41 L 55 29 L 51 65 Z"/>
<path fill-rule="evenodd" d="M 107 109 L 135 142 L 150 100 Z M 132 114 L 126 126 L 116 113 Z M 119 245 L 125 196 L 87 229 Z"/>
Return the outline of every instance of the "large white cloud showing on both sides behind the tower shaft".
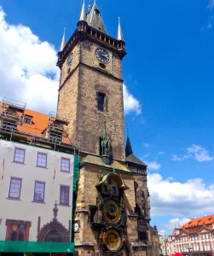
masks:
<path fill-rule="evenodd" d="M 60 80 L 55 47 L 41 42 L 29 27 L 7 23 L 1 7 L 0 38 L 0 101 L 7 97 L 38 112 L 55 111 Z M 125 85 L 124 113 L 141 113 L 140 102 Z"/>

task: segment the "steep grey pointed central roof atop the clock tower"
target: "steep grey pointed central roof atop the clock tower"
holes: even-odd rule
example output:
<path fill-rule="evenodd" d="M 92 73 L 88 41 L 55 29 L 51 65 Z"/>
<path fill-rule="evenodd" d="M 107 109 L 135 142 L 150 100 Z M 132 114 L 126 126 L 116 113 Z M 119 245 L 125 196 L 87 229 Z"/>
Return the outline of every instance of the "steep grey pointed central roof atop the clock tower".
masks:
<path fill-rule="evenodd" d="M 104 25 L 104 22 L 101 19 L 101 12 L 98 9 L 95 2 L 93 4 L 92 8 L 90 9 L 89 13 L 86 14 L 85 21 L 88 23 L 89 26 L 92 26 L 95 29 L 100 30 L 101 32 L 107 34 L 106 26 Z"/>

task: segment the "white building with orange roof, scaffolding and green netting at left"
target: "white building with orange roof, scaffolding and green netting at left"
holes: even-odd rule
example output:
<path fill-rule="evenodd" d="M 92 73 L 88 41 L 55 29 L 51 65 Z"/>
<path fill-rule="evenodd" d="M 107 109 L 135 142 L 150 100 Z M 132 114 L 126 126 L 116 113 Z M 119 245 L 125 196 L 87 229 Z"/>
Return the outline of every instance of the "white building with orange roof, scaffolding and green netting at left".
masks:
<path fill-rule="evenodd" d="M 0 255 L 74 252 L 78 154 L 65 124 L 20 102 L 0 102 Z"/>

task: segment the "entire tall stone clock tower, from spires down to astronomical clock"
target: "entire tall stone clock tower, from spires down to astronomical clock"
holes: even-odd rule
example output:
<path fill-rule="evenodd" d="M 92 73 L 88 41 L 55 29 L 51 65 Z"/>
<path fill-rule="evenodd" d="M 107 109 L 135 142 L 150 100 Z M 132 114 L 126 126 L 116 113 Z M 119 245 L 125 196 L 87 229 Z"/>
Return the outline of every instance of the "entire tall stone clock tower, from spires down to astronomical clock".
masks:
<path fill-rule="evenodd" d="M 125 55 L 118 36 L 108 35 L 96 3 L 81 10 L 76 31 L 62 38 L 58 67 L 58 114 L 80 140 L 78 189 L 73 214 L 77 255 L 158 256 L 157 230 L 149 225 L 147 166 L 124 147 Z"/>

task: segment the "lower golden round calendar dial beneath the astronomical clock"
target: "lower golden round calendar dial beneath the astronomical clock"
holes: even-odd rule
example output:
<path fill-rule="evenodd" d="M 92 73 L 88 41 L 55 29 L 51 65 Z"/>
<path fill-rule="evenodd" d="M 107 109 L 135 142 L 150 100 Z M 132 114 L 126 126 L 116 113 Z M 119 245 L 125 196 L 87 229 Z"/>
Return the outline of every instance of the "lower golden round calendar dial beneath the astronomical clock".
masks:
<path fill-rule="evenodd" d="M 122 241 L 117 230 L 107 230 L 104 234 L 104 243 L 108 250 L 116 252 L 122 246 Z"/>

